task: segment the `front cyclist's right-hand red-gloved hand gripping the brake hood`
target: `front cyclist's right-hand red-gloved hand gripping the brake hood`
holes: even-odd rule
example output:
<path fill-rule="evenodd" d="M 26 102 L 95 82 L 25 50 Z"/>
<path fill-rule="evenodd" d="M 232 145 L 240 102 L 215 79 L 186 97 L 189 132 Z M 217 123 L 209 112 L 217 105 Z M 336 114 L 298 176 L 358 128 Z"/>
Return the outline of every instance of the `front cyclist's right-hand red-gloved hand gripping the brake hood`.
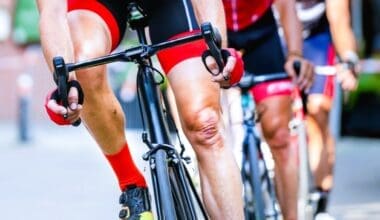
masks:
<path fill-rule="evenodd" d="M 244 63 L 241 55 L 233 48 L 223 49 L 222 54 L 225 65 L 221 72 L 211 56 L 206 58 L 206 65 L 213 73 L 212 80 L 222 88 L 229 88 L 240 81 L 244 73 Z"/>

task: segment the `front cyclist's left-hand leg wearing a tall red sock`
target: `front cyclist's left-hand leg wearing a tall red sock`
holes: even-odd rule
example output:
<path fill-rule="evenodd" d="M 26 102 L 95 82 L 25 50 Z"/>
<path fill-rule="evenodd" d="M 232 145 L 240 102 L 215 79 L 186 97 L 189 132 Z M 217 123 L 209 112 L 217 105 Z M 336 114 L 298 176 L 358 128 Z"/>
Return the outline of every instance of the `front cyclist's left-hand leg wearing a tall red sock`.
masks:
<path fill-rule="evenodd" d="M 115 45 L 115 42 L 112 42 L 115 39 L 114 36 L 112 37 L 112 34 L 115 34 L 114 30 L 111 30 L 107 23 L 110 22 L 107 19 L 114 18 L 110 17 L 112 14 L 104 13 L 107 8 L 99 3 L 95 5 L 95 8 L 84 7 L 85 10 L 76 10 L 83 9 L 81 5 L 77 5 L 77 8 L 75 8 L 76 5 L 71 5 L 73 8 L 68 13 L 74 55 L 77 61 L 108 54 L 112 45 Z M 85 6 L 91 7 L 90 4 Z M 96 7 L 100 7 L 102 12 L 97 11 Z M 83 69 L 77 71 L 76 76 L 85 93 L 81 117 L 110 162 L 120 188 L 125 190 L 123 196 L 131 194 L 132 191 L 144 191 L 144 193 L 132 193 L 133 195 L 146 195 L 144 189 L 146 182 L 129 152 L 124 133 L 124 115 L 107 81 L 106 67 L 103 65 Z M 134 206 L 129 203 L 122 205 Z M 133 215 L 133 208 L 131 212 Z"/>

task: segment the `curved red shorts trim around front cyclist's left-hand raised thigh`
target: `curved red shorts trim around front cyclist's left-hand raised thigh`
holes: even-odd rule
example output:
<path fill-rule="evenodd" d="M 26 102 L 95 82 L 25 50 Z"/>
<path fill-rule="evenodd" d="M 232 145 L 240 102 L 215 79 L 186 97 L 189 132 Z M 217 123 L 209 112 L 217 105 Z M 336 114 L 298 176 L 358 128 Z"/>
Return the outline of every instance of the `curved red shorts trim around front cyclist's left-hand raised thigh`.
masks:
<path fill-rule="evenodd" d="M 106 22 L 108 30 L 111 32 L 112 50 L 120 43 L 120 30 L 113 14 L 103 4 L 96 0 L 68 0 L 68 11 L 84 9 L 95 12 L 104 22 Z"/>

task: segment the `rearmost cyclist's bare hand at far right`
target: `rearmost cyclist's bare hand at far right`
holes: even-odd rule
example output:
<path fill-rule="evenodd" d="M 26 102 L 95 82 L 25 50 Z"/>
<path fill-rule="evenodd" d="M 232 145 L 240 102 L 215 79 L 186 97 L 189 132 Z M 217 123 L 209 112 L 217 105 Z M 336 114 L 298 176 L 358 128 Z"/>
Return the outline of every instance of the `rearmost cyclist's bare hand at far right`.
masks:
<path fill-rule="evenodd" d="M 350 65 L 353 65 L 350 67 Z M 345 91 L 353 91 L 358 87 L 357 74 L 359 65 L 339 63 L 337 64 L 337 80 Z"/>

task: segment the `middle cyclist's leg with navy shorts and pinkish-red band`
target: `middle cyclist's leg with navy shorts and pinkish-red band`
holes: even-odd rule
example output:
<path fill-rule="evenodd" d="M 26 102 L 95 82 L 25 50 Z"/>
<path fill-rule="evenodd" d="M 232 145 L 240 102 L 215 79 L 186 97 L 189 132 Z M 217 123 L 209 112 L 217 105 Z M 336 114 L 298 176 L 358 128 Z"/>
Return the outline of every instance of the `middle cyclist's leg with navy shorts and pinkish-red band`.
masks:
<path fill-rule="evenodd" d="M 256 74 L 284 72 L 284 60 L 277 32 L 251 44 L 244 54 L 246 69 Z M 297 150 L 288 126 L 292 117 L 292 87 L 290 80 L 285 80 L 253 88 L 263 136 L 275 160 L 277 194 L 285 219 L 297 218 Z"/>

